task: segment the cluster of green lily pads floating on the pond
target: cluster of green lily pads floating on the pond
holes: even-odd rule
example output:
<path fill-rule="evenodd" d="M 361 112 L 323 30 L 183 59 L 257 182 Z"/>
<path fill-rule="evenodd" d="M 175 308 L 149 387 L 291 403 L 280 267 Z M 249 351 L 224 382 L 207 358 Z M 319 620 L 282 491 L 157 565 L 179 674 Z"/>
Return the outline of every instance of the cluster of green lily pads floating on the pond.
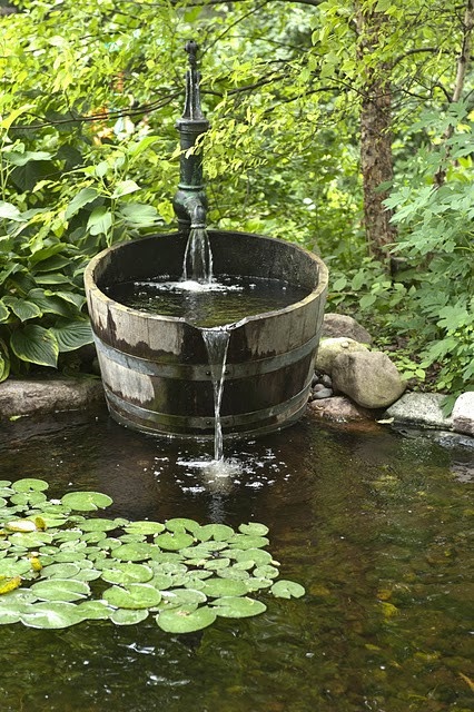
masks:
<path fill-rule="evenodd" d="M 305 593 L 292 581 L 274 583 L 279 564 L 261 548 L 268 544 L 264 524 L 241 524 L 235 532 L 188 518 L 87 518 L 111 498 L 70 492 L 48 500 L 46 490 L 48 483 L 31 477 L 0 482 L 0 624 L 132 625 L 154 613 L 164 631 L 189 633 L 218 616 L 266 611 L 250 593 Z"/>

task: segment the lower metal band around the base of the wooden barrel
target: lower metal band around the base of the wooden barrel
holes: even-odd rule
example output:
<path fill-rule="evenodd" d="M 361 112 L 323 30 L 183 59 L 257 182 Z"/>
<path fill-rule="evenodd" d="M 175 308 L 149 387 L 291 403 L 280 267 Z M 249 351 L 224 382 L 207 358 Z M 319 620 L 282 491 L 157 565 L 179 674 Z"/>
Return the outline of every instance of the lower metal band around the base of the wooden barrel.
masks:
<path fill-rule="evenodd" d="M 238 427 L 239 425 L 249 425 L 251 423 L 259 423 L 266 418 L 278 416 L 286 412 L 292 412 L 292 408 L 298 408 L 302 402 L 307 400 L 310 387 L 309 379 L 305 387 L 292 398 L 288 398 L 284 403 L 270 406 L 269 408 L 261 408 L 260 411 L 251 411 L 250 413 L 241 413 L 238 415 L 226 415 L 220 418 L 223 428 Z M 182 428 L 186 431 L 208 431 L 214 428 L 215 418 L 211 416 L 186 416 L 186 415 L 172 415 L 168 413 L 156 413 L 148 408 L 128 403 L 116 393 L 112 393 L 106 385 L 105 392 L 109 404 L 113 407 L 120 408 L 122 413 L 128 413 L 130 418 L 140 418 L 149 423 L 156 423 L 162 425 L 164 428 L 170 428 L 171 432 L 179 432 Z M 164 432 L 167 432 L 165 429 Z"/>

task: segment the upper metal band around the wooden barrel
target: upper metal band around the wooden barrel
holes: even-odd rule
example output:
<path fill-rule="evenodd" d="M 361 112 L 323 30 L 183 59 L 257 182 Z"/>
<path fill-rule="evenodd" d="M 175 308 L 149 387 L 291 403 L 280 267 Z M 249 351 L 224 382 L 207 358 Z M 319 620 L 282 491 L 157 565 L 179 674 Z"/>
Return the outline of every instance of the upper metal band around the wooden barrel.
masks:
<path fill-rule="evenodd" d="M 120 352 L 113 348 L 113 346 L 105 344 L 97 336 L 95 336 L 95 340 L 99 355 L 103 355 L 109 360 L 139 374 L 159 378 L 175 378 L 178 380 L 210 380 L 211 377 L 209 364 L 156 363 Z M 225 376 L 229 380 L 234 378 L 248 378 L 249 376 L 267 374 L 284 368 L 285 366 L 290 366 L 310 354 L 316 348 L 318 342 L 319 334 L 316 333 L 315 336 L 305 344 L 285 354 L 247 360 L 239 364 L 226 364 Z"/>

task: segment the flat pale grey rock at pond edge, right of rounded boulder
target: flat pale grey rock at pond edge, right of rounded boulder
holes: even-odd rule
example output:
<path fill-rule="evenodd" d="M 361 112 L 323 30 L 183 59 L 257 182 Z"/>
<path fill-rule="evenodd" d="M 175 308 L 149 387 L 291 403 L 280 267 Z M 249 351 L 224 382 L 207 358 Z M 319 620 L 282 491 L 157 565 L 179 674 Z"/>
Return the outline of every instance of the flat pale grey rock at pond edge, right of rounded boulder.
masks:
<path fill-rule="evenodd" d="M 443 414 L 445 396 L 438 393 L 405 393 L 384 414 L 395 423 L 419 423 L 427 427 L 450 431 L 452 418 Z"/>

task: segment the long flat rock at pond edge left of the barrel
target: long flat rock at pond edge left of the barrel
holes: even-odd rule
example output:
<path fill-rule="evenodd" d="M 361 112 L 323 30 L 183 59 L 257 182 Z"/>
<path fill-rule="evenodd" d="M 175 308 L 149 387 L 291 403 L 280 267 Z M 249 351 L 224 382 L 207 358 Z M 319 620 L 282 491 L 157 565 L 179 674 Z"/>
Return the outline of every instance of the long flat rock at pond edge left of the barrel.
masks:
<path fill-rule="evenodd" d="M 98 379 L 8 380 L 0 384 L 0 419 L 55 411 L 77 411 L 103 400 Z"/>

